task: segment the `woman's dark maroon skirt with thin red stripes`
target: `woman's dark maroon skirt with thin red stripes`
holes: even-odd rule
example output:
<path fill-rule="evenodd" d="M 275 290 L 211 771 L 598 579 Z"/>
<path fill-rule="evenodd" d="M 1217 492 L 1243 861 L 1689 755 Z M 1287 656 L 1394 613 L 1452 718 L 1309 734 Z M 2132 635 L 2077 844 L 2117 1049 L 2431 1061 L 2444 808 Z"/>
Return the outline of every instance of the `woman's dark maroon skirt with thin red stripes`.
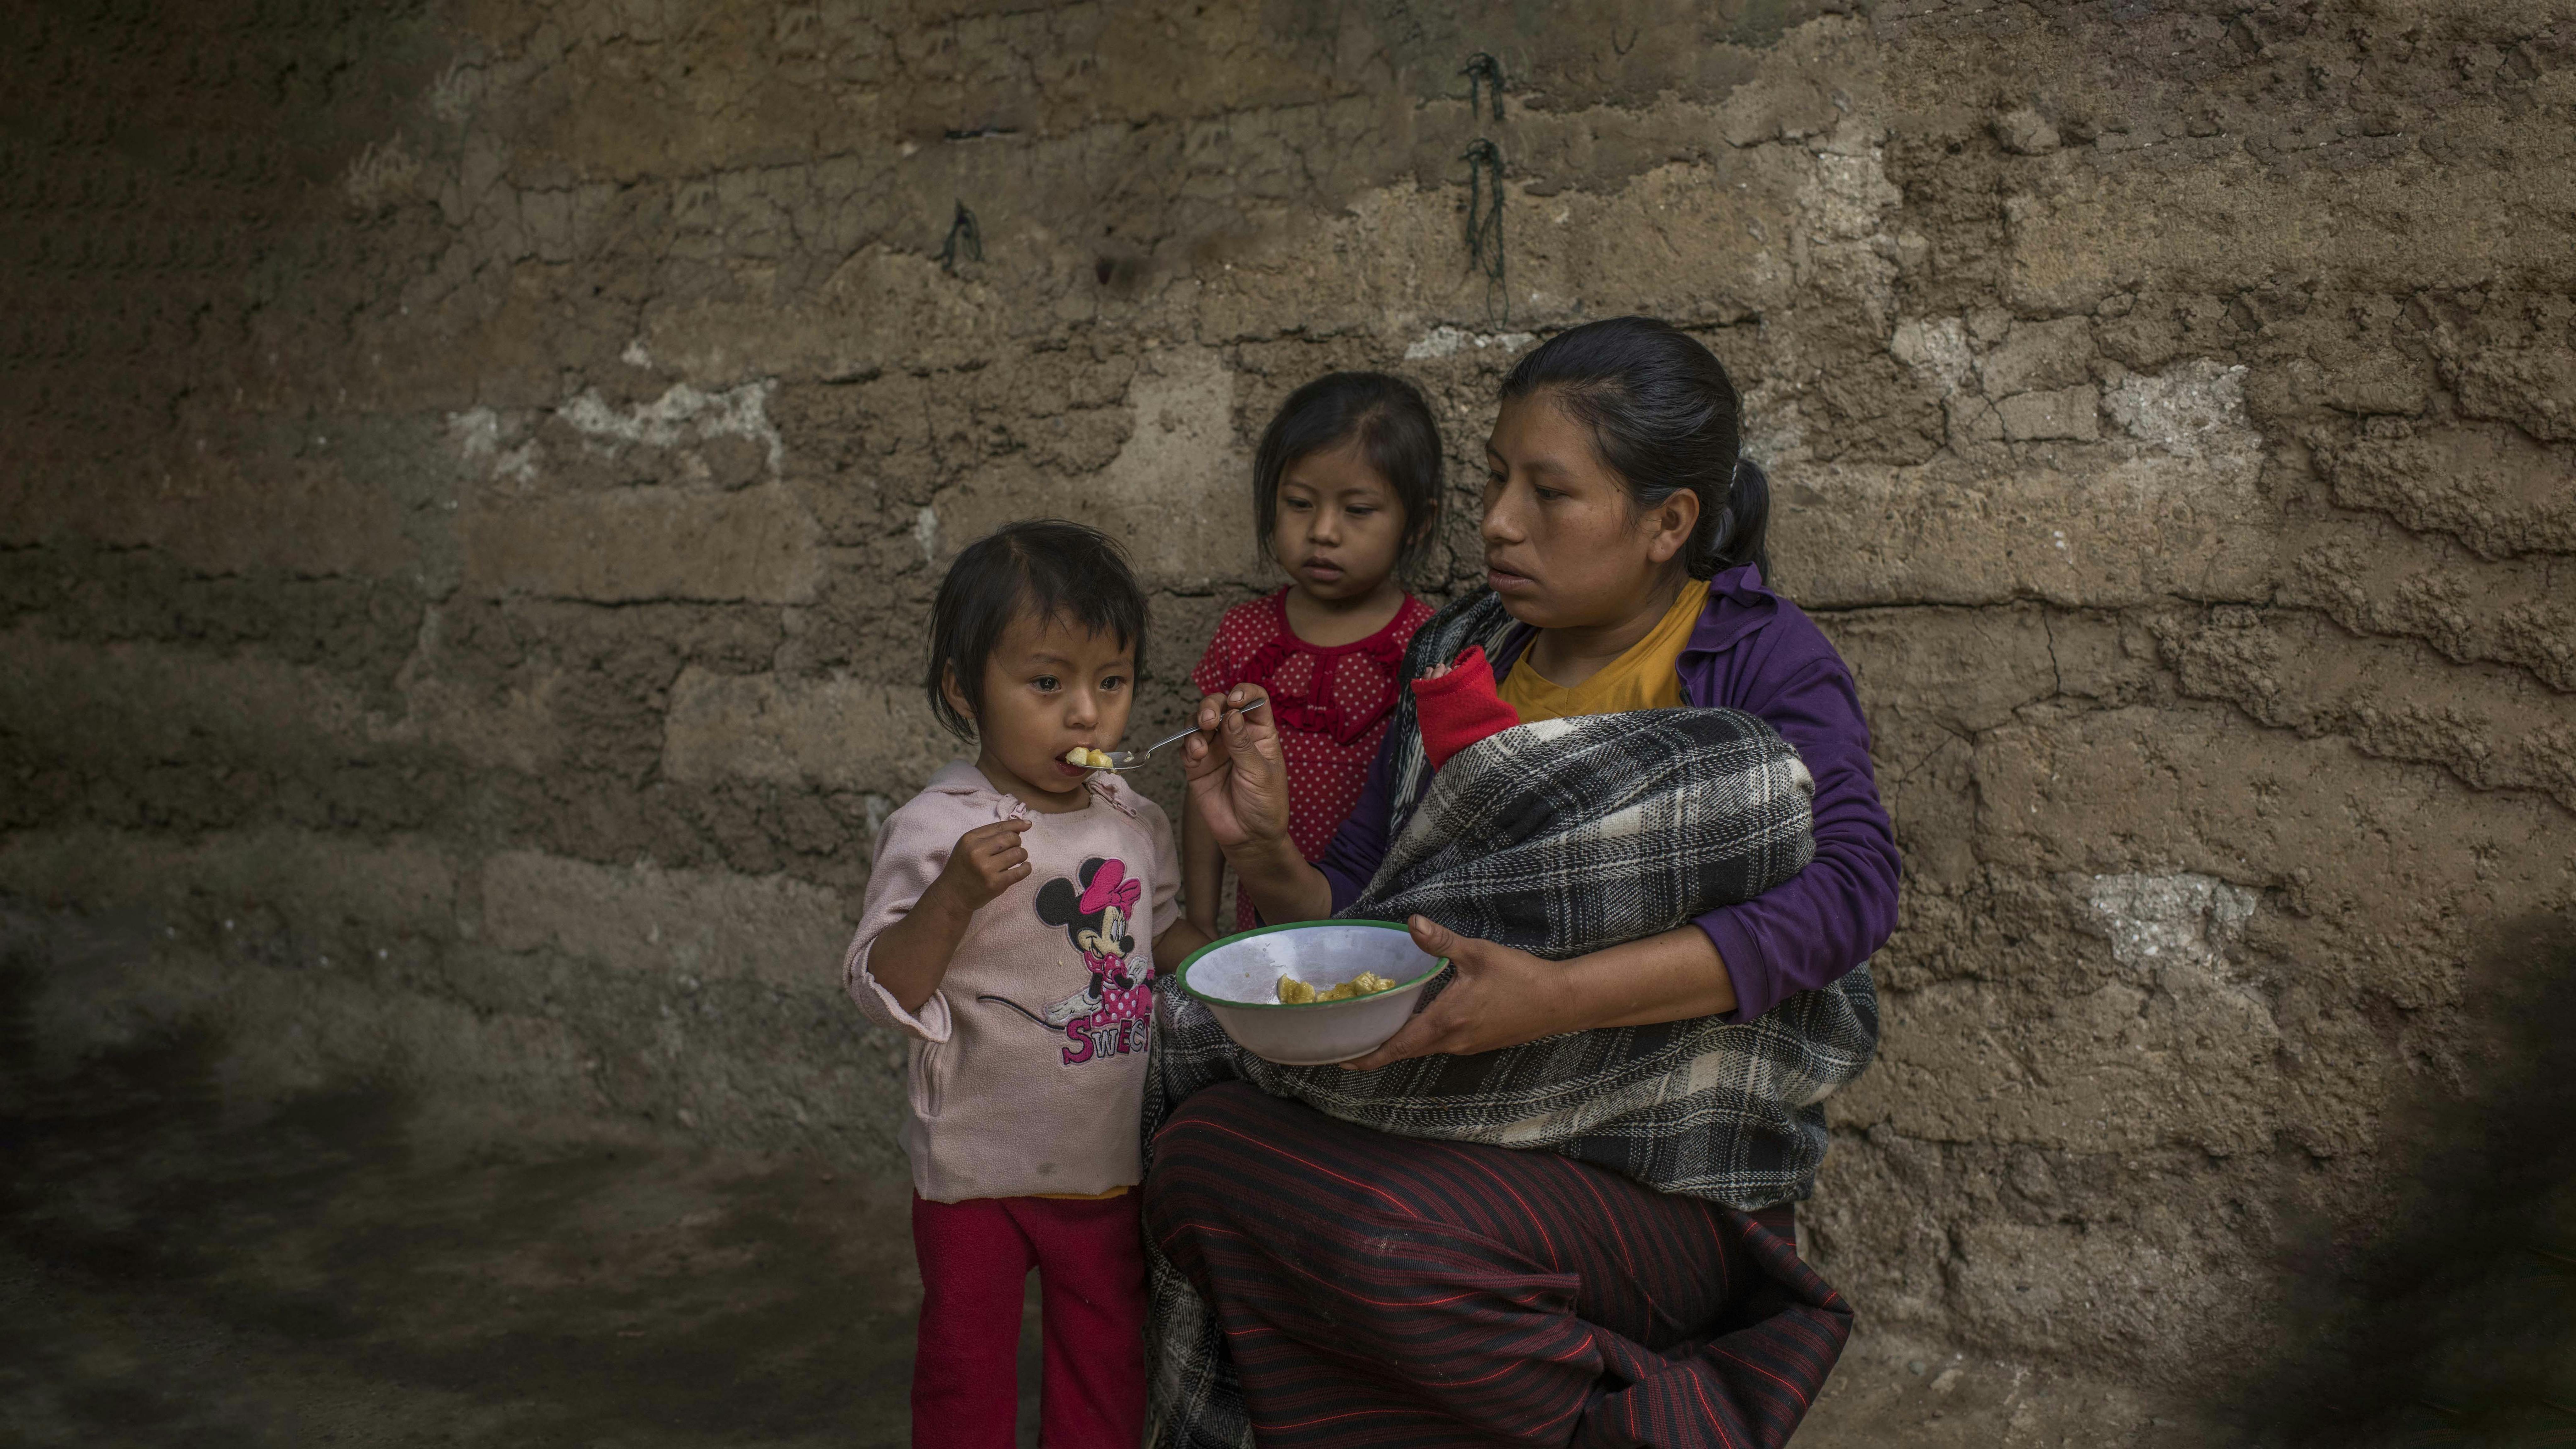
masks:
<path fill-rule="evenodd" d="M 1388 1137 L 1244 1083 L 1170 1116 L 1144 1212 L 1262 1449 L 1783 1444 L 1852 1330 L 1788 1207 Z"/>

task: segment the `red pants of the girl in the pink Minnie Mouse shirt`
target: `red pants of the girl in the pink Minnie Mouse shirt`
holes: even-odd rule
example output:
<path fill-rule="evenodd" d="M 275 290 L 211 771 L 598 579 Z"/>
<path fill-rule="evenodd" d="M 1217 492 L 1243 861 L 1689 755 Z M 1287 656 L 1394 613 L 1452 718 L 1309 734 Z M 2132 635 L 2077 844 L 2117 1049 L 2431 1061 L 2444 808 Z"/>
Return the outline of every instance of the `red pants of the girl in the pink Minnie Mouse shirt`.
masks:
<path fill-rule="evenodd" d="M 1046 1330 L 1038 1441 L 1144 1441 L 1144 1238 L 1139 1194 L 912 1199 L 922 1328 L 912 1356 L 912 1449 L 1012 1449 L 1020 1297 L 1038 1269 Z"/>

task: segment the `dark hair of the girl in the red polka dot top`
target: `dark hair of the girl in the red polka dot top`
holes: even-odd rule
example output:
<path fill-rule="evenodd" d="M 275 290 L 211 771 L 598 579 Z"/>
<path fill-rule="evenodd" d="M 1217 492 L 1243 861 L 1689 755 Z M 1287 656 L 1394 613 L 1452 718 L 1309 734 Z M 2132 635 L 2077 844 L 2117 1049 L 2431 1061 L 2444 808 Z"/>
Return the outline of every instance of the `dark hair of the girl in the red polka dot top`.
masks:
<path fill-rule="evenodd" d="M 1422 392 L 1383 371 L 1327 371 L 1288 394 L 1252 454 L 1252 536 L 1270 554 L 1280 480 L 1306 454 L 1360 443 L 1368 467 L 1396 490 L 1404 508 L 1404 552 L 1412 559 L 1440 516 L 1440 425 Z"/>

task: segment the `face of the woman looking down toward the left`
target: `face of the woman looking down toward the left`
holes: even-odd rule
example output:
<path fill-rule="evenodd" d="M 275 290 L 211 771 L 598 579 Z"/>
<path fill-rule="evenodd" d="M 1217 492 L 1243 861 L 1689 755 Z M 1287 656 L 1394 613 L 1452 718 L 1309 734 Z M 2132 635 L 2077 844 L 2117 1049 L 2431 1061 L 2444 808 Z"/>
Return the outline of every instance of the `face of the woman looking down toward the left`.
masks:
<path fill-rule="evenodd" d="M 1484 578 L 1512 619 L 1538 629 L 1636 616 L 1664 590 L 1700 521 L 1687 490 L 1636 508 L 1592 451 L 1592 428 L 1548 392 L 1502 405 L 1484 467 Z"/>

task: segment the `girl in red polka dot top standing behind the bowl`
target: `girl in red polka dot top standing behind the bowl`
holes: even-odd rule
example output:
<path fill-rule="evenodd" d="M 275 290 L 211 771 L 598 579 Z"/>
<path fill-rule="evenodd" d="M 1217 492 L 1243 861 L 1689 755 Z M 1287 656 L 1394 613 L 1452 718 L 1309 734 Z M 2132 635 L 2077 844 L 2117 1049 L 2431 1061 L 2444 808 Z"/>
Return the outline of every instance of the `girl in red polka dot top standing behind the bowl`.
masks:
<path fill-rule="evenodd" d="M 1267 598 L 1236 603 L 1190 683 L 1270 694 L 1288 766 L 1288 835 L 1309 861 L 1360 802 L 1386 737 L 1404 645 L 1432 611 L 1396 583 L 1396 565 L 1440 513 L 1440 428 L 1422 394 L 1383 371 L 1334 371 L 1288 394 L 1252 459 L 1252 526 L 1288 572 Z M 1182 820 L 1190 923 L 1216 933 L 1224 856 Z M 1255 926 L 1252 902 L 1234 931 Z"/>

